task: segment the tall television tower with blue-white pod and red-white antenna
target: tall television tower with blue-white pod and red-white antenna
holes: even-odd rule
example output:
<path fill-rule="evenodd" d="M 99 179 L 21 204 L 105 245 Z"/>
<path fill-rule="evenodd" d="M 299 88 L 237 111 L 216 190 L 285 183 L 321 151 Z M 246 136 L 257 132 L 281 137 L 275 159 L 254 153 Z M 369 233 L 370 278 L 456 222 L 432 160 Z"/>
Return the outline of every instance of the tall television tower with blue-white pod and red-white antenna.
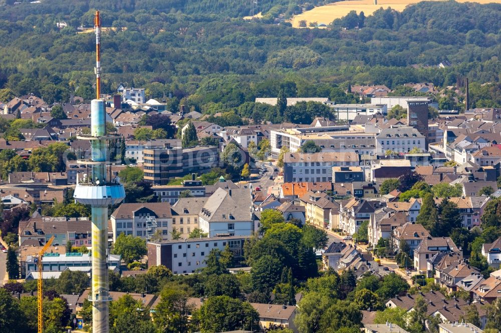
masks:
<path fill-rule="evenodd" d="M 106 134 L 106 110 L 101 93 L 101 21 L 99 10 L 94 18 L 96 30 L 96 99 L 91 101 L 91 134 L 79 134 L 78 139 L 91 141 L 91 158 L 80 159 L 77 163 L 91 166 L 91 174 L 78 179 L 73 197 L 92 207 L 92 291 L 88 299 L 92 302 L 92 331 L 108 333 L 109 304 L 108 289 L 108 206 L 125 198 L 122 184 L 111 177 L 111 162 L 106 151 L 107 141 L 119 135 Z M 109 178 L 106 175 L 110 165 Z"/>

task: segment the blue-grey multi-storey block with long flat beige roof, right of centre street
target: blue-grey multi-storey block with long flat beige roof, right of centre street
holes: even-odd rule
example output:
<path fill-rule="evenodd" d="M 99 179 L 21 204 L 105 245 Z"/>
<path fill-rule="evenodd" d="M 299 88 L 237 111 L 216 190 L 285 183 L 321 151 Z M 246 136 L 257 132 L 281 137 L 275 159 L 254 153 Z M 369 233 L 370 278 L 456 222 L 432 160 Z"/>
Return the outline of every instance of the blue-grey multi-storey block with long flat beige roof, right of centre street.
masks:
<path fill-rule="evenodd" d="M 284 182 L 331 181 L 333 166 L 357 166 L 358 164 L 359 155 L 356 152 L 286 153 L 284 155 Z"/>

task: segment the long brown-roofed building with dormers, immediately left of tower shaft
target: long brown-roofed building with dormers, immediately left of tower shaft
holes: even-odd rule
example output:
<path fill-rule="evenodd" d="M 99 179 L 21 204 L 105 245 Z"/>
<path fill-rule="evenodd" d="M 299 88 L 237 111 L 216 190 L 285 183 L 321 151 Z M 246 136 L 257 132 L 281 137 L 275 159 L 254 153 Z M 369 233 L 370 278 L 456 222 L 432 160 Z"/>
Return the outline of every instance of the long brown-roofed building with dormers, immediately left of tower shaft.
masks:
<path fill-rule="evenodd" d="M 52 236 L 54 245 L 64 246 L 68 240 L 74 246 L 92 245 L 92 226 L 87 217 L 33 217 L 20 221 L 18 230 L 19 245 L 27 239 L 45 244 Z"/>

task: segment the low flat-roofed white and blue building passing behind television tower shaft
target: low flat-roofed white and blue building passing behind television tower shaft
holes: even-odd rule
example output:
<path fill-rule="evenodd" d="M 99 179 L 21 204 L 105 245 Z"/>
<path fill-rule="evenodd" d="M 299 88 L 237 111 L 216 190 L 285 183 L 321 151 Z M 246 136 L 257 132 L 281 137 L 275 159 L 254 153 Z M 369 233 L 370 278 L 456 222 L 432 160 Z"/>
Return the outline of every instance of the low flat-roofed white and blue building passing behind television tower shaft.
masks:
<path fill-rule="evenodd" d="M 120 255 L 108 254 L 107 262 L 109 269 L 115 271 L 118 271 L 120 269 Z M 26 258 L 25 265 L 26 265 L 25 272 L 27 276 L 33 272 L 38 273 L 38 256 L 28 255 L 28 257 Z M 48 276 L 54 276 L 50 274 L 45 274 L 46 272 L 61 273 L 66 269 L 80 270 L 86 273 L 90 273 L 92 271 L 92 256 L 90 255 L 90 253 L 79 253 L 79 252 L 66 253 L 66 254 L 60 254 L 60 253 L 44 254 L 43 272 L 42 272 L 42 274 L 44 274 L 44 278 L 48 278 Z M 35 276 L 33 277 L 35 278 Z"/>

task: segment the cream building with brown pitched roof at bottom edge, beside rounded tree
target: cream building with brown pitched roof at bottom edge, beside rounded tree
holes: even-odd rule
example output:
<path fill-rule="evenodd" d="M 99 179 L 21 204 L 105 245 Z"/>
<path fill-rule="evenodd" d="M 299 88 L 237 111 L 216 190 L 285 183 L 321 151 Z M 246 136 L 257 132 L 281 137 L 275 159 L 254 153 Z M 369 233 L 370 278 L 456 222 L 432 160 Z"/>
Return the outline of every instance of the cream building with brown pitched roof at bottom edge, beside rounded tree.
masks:
<path fill-rule="evenodd" d="M 259 323 L 263 328 L 283 326 L 298 332 L 294 324 L 296 317 L 295 305 L 280 305 L 267 303 L 250 303 L 259 313 Z"/>

